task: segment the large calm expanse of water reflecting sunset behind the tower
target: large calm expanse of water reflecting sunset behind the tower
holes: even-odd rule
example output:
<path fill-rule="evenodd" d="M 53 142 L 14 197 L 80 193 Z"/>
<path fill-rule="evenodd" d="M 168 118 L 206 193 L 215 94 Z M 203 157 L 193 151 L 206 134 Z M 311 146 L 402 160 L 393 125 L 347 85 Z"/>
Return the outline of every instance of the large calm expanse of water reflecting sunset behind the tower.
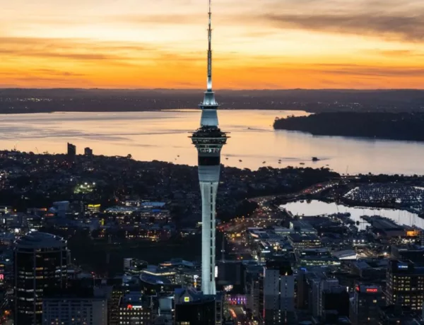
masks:
<path fill-rule="evenodd" d="M 188 138 L 199 126 L 199 110 L 11 114 L 0 118 L 0 148 L 64 153 L 66 142 L 93 148 L 95 154 L 128 155 L 137 160 L 165 160 L 196 165 L 196 150 Z M 300 111 L 223 110 L 220 127 L 231 132 L 223 148 L 225 165 L 329 167 L 336 172 L 424 175 L 424 144 L 358 138 L 311 136 L 274 131 L 275 117 L 305 115 Z M 179 155 L 179 157 L 177 157 Z M 312 157 L 322 159 L 312 162 Z M 225 159 L 225 158 L 228 158 Z M 281 159 L 281 164 L 278 160 Z M 242 162 L 239 162 L 242 160 Z M 265 161 L 265 163 L 263 163 Z"/>

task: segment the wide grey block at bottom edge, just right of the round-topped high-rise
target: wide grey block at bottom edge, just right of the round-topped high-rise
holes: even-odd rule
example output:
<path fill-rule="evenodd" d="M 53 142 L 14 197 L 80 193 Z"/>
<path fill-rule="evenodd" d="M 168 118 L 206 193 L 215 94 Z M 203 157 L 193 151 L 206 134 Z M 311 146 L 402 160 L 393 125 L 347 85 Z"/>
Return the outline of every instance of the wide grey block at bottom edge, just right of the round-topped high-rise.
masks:
<path fill-rule="evenodd" d="M 42 324 L 105 325 L 107 297 L 104 293 L 55 295 L 42 300 Z"/>

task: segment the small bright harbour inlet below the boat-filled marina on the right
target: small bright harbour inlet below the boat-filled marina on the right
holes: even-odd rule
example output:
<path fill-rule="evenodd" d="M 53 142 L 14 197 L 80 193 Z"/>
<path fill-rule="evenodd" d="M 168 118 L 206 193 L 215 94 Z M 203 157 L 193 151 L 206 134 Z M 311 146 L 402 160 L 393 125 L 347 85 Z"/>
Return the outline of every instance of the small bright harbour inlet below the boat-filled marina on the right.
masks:
<path fill-rule="evenodd" d="M 364 230 L 368 225 L 365 220 L 360 218 L 363 215 L 379 215 L 384 218 L 389 218 L 398 225 L 416 225 L 424 229 L 424 219 L 418 217 L 416 213 L 411 213 L 403 210 L 384 209 L 384 208 L 360 208 L 343 206 L 336 203 L 326 203 L 323 201 L 312 200 L 310 203 L 306 201 L 291 202 L 281 206 L 293 215 L 329 215 L 334 213 L 351 213 L 351 220 L 359 221 L 359 230 Z"/>

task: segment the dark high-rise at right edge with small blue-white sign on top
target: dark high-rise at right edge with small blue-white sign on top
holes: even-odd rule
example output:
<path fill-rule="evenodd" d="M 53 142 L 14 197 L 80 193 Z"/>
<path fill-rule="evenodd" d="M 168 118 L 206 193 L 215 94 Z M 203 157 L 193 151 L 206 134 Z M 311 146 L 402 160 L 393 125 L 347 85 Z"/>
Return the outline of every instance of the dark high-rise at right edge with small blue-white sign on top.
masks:
<path fill-rule="evenodd" d="M 399 305 L 418 311 L 424 302 L 424 267 L 413 262 L 391 260 L 387 267 L 387 305 Z"/>

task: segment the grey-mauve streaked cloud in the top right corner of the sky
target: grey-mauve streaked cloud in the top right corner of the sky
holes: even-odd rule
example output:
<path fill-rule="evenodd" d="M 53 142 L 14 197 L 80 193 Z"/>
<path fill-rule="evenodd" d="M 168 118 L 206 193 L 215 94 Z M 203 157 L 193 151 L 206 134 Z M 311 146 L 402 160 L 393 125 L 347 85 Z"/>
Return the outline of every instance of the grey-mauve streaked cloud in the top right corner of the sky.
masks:
<path fill-rule="evenodd" d="M 253 20 L 277 28 L 365 35 L 385 40 L 424 40 L 421 0 L 264 0 Z"/>

